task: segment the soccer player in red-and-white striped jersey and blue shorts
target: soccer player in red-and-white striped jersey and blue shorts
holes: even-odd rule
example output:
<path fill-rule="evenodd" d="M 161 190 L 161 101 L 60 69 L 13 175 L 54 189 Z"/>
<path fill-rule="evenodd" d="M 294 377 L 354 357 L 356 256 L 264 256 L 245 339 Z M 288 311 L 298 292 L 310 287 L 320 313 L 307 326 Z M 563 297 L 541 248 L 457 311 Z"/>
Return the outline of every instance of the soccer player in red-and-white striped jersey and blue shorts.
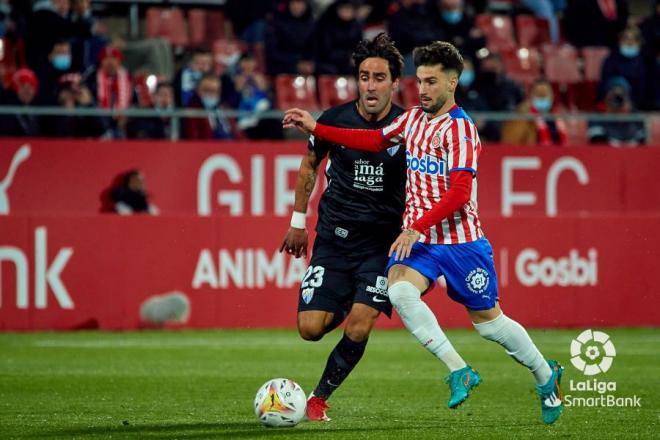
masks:
<path fill-rule="evenodd" d="M 543 421 L 553 423 L 563 407 L 559 389 L 563 368 L 544 359 L 527 331 L 506 316 L 498 302 L 493 252 L 477 214 L 482 145 L 472 120 L 454 100 L 463 58 L 450 43 L 437 41 L 416 48 L 413 59 L 420 105 L 392 124 L 380 130 L 329 127 L 316 123 L 308 112 L 291 109 L 284 126 L 364 151 L 405 144 L 406 208 L 403 231 L 389 252 L 390 302 L 413 336 L 449 368 L 448 405 L 456 408 L 481 377 L 456 352 L 421 300 L 422 292 L 444 276 L 450 298 L 466 307 L 479 334 L 503 346 L 532 372 Z"/>

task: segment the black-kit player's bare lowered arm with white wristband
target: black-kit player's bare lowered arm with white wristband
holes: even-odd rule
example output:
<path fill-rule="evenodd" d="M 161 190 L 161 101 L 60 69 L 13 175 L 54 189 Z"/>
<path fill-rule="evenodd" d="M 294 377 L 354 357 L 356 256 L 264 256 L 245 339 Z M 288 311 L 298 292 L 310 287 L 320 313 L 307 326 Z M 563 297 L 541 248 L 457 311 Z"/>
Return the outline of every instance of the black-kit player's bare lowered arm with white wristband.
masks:
<path fill-rule="evenodd" d="M 309 237 L 305 227 L 305 216 L 309 198 L 316 184 L 319 165 L 321 161 L 317 158 L 313 150 L 309 150 L 307 155 L 300 162 L 298 179 L 296 180 L 295 202 L 293 205 L 293 215 L 291 216 L 291 227 L 284 237 L 280 252 L 286 250 L 296 258 L 307 255 Z"/>

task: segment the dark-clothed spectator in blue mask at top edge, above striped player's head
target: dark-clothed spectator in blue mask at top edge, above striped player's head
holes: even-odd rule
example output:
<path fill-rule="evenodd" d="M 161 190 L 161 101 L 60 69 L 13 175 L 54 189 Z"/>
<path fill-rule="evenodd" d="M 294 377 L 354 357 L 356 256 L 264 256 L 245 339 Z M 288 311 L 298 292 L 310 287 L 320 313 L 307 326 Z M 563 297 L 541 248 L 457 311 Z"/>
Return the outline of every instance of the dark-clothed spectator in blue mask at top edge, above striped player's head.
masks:
<path fill-rule="evenodd" d="M 466 9 L 464 0 L 437 0 L 437 25 L 445 40 L 456 46 L 463 56 L 474 57 L 486 46 L 486 38 L 474 24 L 474 16 Z"/>

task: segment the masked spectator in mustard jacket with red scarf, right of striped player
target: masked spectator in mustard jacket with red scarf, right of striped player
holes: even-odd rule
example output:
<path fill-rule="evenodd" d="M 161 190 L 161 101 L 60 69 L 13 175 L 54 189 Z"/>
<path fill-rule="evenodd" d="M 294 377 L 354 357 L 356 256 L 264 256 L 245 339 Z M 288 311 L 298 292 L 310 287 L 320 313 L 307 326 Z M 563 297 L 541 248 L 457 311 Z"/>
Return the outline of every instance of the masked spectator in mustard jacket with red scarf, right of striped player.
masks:
<path fill-rule="evenodd" d="M 502 127 L 502 142 L 513 145 L 565 145 L 565 122 L 553 116 L 555 110 L 552 86 L 544 79 L 532 84 L 529 98 L 520 113 L 533 115 L 532 120 L 507 121 Z"/>

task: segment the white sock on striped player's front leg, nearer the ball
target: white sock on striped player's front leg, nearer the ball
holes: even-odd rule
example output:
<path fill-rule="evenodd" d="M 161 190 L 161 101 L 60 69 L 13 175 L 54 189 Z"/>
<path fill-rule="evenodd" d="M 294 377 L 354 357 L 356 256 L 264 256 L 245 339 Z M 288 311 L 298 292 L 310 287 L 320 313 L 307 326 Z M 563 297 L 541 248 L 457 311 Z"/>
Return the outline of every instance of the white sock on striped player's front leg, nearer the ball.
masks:
<path fill-rule="evenodd" d="M 460 370 L 467 364 L 438 325 L 438 320 L 422 301 L 417 287 L 408 281 L 394 283 L 387 293 L 406 328 L 428 351 L 447 365 L 449 371 Z"/>

